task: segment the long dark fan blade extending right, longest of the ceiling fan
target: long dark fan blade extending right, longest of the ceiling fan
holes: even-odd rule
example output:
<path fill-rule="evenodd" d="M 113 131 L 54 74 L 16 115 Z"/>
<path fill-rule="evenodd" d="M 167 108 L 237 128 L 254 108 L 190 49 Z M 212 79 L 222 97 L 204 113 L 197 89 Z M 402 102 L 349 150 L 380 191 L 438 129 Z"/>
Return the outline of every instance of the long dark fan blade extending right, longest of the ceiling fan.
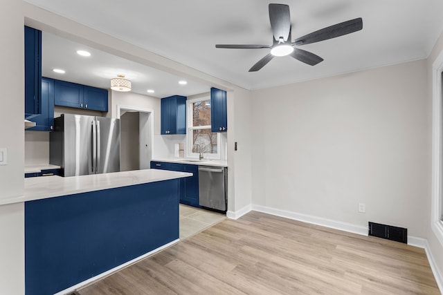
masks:
<path fill-rule="evenodd" d="M 327 39 L 332 39 L 350 34 L 352 32 L 359 31 L 362 28 L 363 28 L 363 20 L 361 19 L 361 17 L 359 17 L 358 19 L 343 21 L 343 23 L 337 23 L 334 26 L 329 26 L 327 28 L 311 32 L 311 34 L 296 39 L 296 41 L 293 41 L 293 44 L 305 45 L 319 41 L 324 41 Z"/>

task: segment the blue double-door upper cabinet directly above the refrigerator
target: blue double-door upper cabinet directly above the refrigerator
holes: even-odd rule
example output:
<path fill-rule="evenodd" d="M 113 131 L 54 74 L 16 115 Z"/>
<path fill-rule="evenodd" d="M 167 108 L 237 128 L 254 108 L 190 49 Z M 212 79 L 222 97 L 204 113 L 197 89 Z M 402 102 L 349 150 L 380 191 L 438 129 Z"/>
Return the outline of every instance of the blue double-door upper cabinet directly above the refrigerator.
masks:
<path fill-rule="evenodd" d="M 55 105 L 108 111 L 108 91 L 71 82 L 55 80 Z"/>

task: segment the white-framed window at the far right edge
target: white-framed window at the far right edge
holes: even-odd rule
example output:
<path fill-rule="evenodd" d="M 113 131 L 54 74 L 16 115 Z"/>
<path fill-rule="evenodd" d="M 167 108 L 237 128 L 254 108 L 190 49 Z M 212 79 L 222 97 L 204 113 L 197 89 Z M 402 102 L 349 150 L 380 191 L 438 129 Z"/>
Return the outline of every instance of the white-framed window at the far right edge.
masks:
<path fill-rule="evenodd" d="M 433 119 L 432 119 L 432 208 L 431 227 L 435 236 L 443 245 L 443 122 L 442 122 L 442 73 L 443 73 L 443 51 L 433 63 Z"/>

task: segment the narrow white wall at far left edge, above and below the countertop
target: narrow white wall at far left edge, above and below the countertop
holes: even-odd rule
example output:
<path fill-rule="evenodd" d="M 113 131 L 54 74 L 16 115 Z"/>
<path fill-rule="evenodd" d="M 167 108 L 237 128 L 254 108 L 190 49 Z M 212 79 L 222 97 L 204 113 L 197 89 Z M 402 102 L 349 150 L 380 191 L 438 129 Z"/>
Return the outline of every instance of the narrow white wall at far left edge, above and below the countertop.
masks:
<path fill-rule="evenodd" d="M 24 16 L 22 2 L 4 0 L 0 9 L 0 199 L 17 198 L 24 189 Z M 0 294 L 24 294 L 24 204 L 0 206 Z"/>

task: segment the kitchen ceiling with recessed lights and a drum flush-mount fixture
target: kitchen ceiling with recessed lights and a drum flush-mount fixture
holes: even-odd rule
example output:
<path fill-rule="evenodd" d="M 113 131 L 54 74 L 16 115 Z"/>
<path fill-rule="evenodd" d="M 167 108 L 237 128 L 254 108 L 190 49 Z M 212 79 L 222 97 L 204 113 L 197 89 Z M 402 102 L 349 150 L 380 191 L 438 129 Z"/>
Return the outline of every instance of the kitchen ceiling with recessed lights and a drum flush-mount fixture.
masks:
<path fill-rule="evenodd" d="M 77 50 L 86 50 L 90 57 L 78 55 Z M 66 73 L 54 73 L 59 68 Z M 104 51 L 42 32 L 42 76 L 75 82 L 99 88 L 110 88 L 111 78 L 125 75 L 132 82 L 132 92 L 152 97 L 171 95 L 190 96 L 210 91 L 208 85 L 183 79 L 155 68 L 143 66 Z M 188 84 L 181 85 L 179 81 Z M 147 90 L 154 93 L 147 93 Z"/>

